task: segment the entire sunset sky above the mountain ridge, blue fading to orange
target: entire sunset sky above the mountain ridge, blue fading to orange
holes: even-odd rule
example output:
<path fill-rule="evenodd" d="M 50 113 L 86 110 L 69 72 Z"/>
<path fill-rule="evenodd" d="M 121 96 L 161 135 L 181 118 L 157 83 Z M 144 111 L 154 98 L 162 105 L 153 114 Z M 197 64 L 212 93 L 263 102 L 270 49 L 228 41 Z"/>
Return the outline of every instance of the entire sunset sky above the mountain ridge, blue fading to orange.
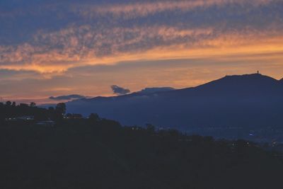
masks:
<path fill-rule="evenodd" d="M 283 0 L 1 0 L 0 101 L 283 77 Z"/>

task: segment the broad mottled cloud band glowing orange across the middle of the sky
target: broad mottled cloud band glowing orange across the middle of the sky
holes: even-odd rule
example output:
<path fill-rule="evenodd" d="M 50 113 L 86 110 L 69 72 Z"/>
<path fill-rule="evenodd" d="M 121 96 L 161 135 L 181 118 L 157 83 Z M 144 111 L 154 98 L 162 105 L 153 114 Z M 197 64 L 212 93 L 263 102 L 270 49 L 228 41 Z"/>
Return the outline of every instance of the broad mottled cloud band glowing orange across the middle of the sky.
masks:
<path fill-rule="evenodd" d="M 127 36 L 132 36 L 127 38 Z M 40 36 L 40 38 L 38 37 Z M 39 33 L 39 44 L 0 46 L 0 69 L 62 73 L 72 67 L 117 64 L 157 59 L 220 58 L 282 60 L 283 35 L 280 30 L 241 30 L 219 33 L 216 28 L 180 29 L 151 26 L 112 28 L 99 33 L 91 26 Z M 57 47 L 58 46 L 58 47 Z M 276 55 L 276 57 L 275 57 Z M 263 57 L 261 57 L 263 59 Z"/>

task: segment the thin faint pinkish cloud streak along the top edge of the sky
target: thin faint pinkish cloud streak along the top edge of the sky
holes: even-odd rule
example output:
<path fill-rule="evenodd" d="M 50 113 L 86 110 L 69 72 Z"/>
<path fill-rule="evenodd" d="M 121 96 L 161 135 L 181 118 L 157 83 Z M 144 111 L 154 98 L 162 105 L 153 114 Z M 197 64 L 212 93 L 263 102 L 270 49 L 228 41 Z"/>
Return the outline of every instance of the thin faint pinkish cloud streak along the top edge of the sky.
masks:
<path fill-rule="evenodd" d="M 72 10 L 83 17 L 95 18 L 97 16 L 112 14 L 123 18 L 137 18 L 149 16 L 164 11 L 192 11 L 196 8 L 209 8 L 211 6 L 241 5 L 241 6 L 264 6 L 272 0 L 194 0 L 194 1 L 147 1 L 132 4 L 114 4 L 105 6 L 73 6 Z"/>

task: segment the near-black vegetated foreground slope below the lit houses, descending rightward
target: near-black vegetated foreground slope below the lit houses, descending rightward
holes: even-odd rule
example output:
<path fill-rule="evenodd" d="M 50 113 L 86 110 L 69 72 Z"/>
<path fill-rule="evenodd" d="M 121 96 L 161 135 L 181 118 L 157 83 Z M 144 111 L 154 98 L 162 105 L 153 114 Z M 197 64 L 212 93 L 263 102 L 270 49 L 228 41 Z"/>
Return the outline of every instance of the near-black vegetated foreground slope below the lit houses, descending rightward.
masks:
<path fill-rule="evenodd" d="M 280 156 L 250 142 L 122 127 L 94 114 L 57 119 L 52 127 L 1 121 L 0 188 L 283 187 Z"/>

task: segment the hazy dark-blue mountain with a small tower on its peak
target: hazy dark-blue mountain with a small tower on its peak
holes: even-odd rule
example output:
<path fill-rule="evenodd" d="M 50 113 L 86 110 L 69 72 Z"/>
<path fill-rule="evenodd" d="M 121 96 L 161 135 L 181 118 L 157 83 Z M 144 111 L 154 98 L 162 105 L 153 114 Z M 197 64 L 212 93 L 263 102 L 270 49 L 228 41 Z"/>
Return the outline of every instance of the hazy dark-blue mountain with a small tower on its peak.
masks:
<path fill-rule="evenodd" d="M 283 81 L 262 74 L 225 76 L 197 87 L 83 98 L 67 103 L 70 113 L 98 113 L 124 125 L 174 127 L 279 127 Z"/>

